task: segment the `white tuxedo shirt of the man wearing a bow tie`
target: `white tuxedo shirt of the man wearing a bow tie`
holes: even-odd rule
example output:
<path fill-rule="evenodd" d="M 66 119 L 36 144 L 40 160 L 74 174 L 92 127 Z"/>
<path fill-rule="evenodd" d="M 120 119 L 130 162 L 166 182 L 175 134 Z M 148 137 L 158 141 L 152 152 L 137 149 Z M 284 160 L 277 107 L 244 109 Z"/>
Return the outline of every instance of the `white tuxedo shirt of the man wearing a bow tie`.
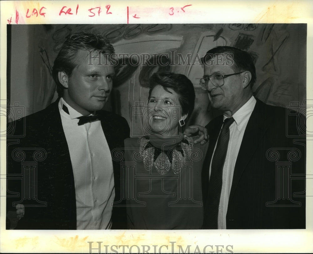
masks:
<path fill-rule="evenodd" d="M 63 104 L 69 114 L 62 109 Z M 82 114 L 63 98 L 59 111 L 74 172 L 77 229 L 110 229 L 115 198 L 113 164 L 101 122 L 79 126 L 77 117 Z"/>

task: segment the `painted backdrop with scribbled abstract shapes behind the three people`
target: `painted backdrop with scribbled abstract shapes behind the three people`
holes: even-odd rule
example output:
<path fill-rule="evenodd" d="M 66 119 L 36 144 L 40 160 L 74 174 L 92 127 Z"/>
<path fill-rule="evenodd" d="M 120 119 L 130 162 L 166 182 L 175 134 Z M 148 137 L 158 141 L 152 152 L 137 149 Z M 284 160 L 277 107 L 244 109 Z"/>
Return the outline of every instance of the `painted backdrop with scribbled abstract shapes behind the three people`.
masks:
<path fill-rule="evenodd" d="M 200 57 L 215 46 L 234 46 L 252 55 L 257 71 L 253 91 L 263 102 L 286 107 L 306 98 L 306 24 L 33 25 L 34 112 L 57 97 L 53 61 L 64 40 L 80 30 L 101 34 L 119 55 L 106 109 L 125 117 L 132 135 L 142 133 L 137 109 L 146 105 L 148 80 L 156 71 L 181 73 L 192 81 L 196 105 L 190 124 L 205 125 L 218 114 L 199 86 Z"/>

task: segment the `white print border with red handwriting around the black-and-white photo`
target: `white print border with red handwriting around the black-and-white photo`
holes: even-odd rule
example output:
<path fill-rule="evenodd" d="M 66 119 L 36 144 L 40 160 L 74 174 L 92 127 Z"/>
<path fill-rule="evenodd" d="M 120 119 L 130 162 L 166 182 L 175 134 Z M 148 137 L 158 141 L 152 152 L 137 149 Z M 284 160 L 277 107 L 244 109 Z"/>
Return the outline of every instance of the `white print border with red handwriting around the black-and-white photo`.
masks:
<path fill-rule="evenodd" d="M 77 15 L 61 15 L 63 6 L 70 7 Z M 105 5 L 111 5 L 112 15 L 105 14 Z M 177 12 L 174 15 L 170 8 L 179 10 L 185 5 L 185 12 Z M 27 9 L 40 9 L 45 7 L 45 17 L 26 18 Z M 88 9 L 103 6 L 100 16 L 88 17 Z M 7 19 L 12 17 L 15 22 L 16 10 L 19 12 L 19 24 L 126 24 L 127 8 L 129 7 L 129 24 L 149 23 L 306 23 L 307 24 L 307 99 L 313 99 L 312 70 L 313 70 L 313 3 L 307 1 L 1 1 L 1 102 L 6 100 L 6 25 Z M 133 16 L 136 14 L 136 19 Z M 312 122 L 308 122 L 312 124 Z M 311 125 L 310 125 L 311 126 Z M 1 133 L 6 128 L 5 117 L 1 115 Z M 89 253 L 88 241 L 94 242 L 93 248 L 97 247 L 97 241 L 101 243 L 101 253 L 105 252 L 104 245 L 149 245 L 149 253 L 157 245 L 157 251 L 162 245 L 161 252 L 171 252 L 175 242 L 174 252 L 178 252 L 178 245 L 183 250 L 191 245 L 190 251 L 202 252 L 207 245 L 226 246 L 234 253 L 253 252 L 313 252 L 313 171 L 312 171 L 312 144 L 313 139 L 307 141 L 307 208 L 306 230 L 5 230 L 6 214 L 6 145 L 1 140 L 1 206 L 0 206 L 0 252 L 68 252 Z M 310 176 L 310 177 L 309 177 Z M 146 248 L 147 249 L 147 248 Z M 116 250 L 116 248 L 114 248 Z M 122 248 L 119 248 L 121 251 Z M 128 249 L 125 249 L 128 251 Z M 142 250 L 142 247 L 141 247 Z M 219 247 L 221 250 L 221 247 Z M 109 247 L 110 251 L 110 247 Z M 136 248 L 133 251 L 137 251 Z M 207 247 L 207 252 L 212 251 Z M 228 251 L 227 251 L 228 252 Z M 93 250 L 93 253 L 98 253 Z M 228 252 L 229 253 L 229 252 Z"/>

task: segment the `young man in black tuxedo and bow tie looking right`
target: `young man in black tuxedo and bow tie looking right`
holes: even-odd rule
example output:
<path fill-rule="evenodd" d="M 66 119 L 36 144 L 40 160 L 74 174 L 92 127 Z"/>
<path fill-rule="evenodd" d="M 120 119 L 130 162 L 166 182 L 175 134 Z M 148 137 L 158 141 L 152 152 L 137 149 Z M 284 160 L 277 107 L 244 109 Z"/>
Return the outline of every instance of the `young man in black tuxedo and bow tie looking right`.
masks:
<path fill-rule="evenodd" d="M 8 176 L 21 174 L 17 151 L 23 162 L 34 160 L 34 149 L 42 152 L 37 172 L 23 169 L 37 174 L 29 190 L 21 189 L 21 181 L 8 180 L 8 192 L 36 193 L 41 204 L 22 200 L 26 213 L 17 229 L 126 228 L 125 208 L 112 206 L 120 200 L 120 164 L 112 161 L 111 151 L 123 148 L 130 130 L 124 118 L 101 110 L 112 90 L 113 54 L 101 36 L 73 34 L 54 61 L 58 100 L 13 123 L 11 136 L 23 132 L 23 123 L 26 128 L 18 144 L 8 145 Z M 8 207 L 21 199 L 10 196 Z"/>

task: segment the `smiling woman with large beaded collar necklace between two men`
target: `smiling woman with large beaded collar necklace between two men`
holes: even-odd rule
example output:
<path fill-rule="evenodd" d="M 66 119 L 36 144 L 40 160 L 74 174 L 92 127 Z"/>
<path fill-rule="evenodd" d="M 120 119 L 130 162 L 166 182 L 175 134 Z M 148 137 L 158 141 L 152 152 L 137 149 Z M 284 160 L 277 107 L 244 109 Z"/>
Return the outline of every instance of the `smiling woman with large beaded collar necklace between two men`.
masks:
<path fill-rule="evenodd" d="M 142 116 L 148 135 L 125 140 L 128 229 L 201 228 L 201 171 L 208 144 L 194 144 L 182 134 L 194 100 L 186 76 L 152 75 Z"/>

